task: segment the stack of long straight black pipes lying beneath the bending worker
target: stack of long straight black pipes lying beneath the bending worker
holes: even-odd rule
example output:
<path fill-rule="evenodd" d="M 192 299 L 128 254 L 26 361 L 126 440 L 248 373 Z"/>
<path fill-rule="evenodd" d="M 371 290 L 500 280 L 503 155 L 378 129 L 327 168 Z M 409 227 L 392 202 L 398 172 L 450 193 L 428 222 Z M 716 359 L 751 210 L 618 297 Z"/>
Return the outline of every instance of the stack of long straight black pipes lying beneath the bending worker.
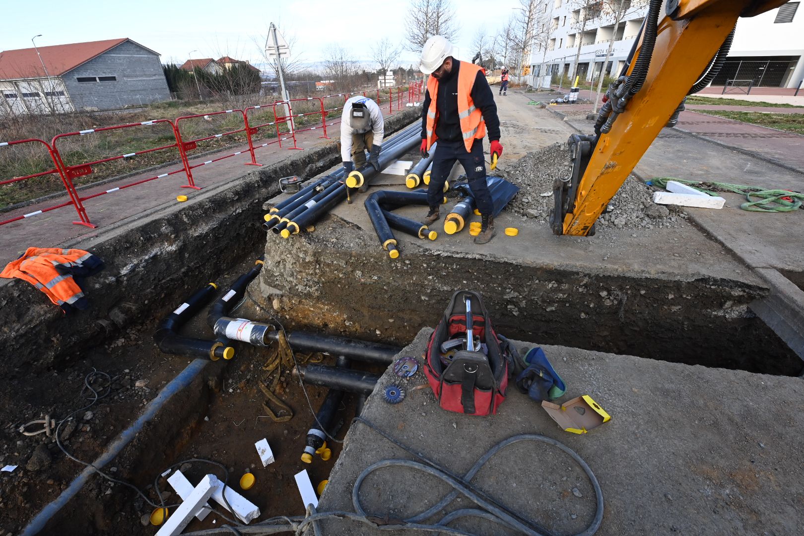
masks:
<path fill-rule="evenodd" d="M 380 169 L 412 149 L 420 140 L 419 134 L 420 126 L 416 124 L 386 141 L 383 144 L 382 152 L 379 153 Z M 350 174 L 350 178 L 344 181 L 343 168 L 319 178 L 310 186 L 306 186 L 281 203 L 277 203 L 269 214 L 265 215 L 263 227 L 266 231 L 273 231 L 283 238 L 289 238 L 290 235 L 297 234 L 301 229 L 306 229 L 332 207 L 347 198 L 349 194 L 347 185 L 348 187 L 361 186 L 364 180 L 373 178 L 377 171 L 371 164 L 366 164 L 361 166 L 357 173 L 359 175 L 355 175 L 355 177 L 359 176 L 359 182 L 356 182 L 356 179 L 350 181 L 355 171 Z"/>

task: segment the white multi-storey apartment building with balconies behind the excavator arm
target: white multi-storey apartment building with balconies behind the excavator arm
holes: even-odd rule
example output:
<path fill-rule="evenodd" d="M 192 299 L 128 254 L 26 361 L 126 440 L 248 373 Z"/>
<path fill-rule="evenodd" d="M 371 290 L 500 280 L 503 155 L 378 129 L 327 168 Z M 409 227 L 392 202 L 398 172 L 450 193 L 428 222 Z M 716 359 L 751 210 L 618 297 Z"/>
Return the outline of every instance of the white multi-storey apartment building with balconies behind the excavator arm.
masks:
<path fill-rule="evenodd" d="M 540 4 L 535 43 L 531 47 L 531 80 L 545 75 L 572 76 L 578 49 L 581 80 L 597 80 L 620 72 L 646 14 L 645 0 L 623 0 L 619 23 L 612 6 L 617 0 L 547 0 Z M 800 2 L 753 18 L 740 18 L 728 61 L 712 85 L 747 84 L 794 88 L 804 77 L 804 13 Z M 612 55 L 605 61 L 614 35 Z"/>

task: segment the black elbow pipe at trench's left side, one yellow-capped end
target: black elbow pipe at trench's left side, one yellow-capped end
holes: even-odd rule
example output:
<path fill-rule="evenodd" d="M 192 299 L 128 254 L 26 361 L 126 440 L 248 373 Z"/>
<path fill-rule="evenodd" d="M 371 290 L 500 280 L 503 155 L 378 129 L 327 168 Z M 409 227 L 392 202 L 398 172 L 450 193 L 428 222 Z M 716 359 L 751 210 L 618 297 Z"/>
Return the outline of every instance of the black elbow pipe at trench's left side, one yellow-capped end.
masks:
<path fill-rule="evenodd" d="M 188 320 L 195 317 L 195 313 L 209 303 L 217 288 L 215 283 L 207 284 L 159 322 L 159 327 L 154 333 L 154 342 L 159 346 L 159 350 L 165 354 L 183 355 L 190 358 L 210 358 L 212 361 L 235 357 L 235 349 L 232 346 L 226 346 L 224 342 L 183 337 L 178 334 L 178 329 L 181 329 Z"/>

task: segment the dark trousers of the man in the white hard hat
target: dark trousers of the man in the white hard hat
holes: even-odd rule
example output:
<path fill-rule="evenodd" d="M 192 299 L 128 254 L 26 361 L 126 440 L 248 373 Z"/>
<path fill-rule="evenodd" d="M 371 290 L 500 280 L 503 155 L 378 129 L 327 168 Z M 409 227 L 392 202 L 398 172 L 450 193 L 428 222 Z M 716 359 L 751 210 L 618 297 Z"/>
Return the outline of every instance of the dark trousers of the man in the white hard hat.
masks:
<path fill-rule="evenodd" d="M 493 211 L 489 186 L 486 185 L 486 159 L 483 157 L 483 141 L 475 140 L 470 153 L 466 152 L 463 141 L 438 140 L 433 155 L 433 169 L 430 170 L 430 184 L 427 187 L 427 203 L 438 207 L 444 200 L 444 182 L 449 177 L 455 161 L 461 162 L 466 171 L 466 182 L 472 190 L 474 205 L 481 214 L 490 215 Z"/>

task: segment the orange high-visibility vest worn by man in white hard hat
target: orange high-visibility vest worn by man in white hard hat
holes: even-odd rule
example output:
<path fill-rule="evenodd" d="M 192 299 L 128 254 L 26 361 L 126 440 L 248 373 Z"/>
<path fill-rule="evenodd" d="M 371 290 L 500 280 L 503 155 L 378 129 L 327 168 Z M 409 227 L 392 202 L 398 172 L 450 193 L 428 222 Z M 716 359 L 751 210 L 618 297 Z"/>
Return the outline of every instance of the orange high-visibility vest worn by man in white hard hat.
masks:
<path fill-rule="evenodd" d="M 474 107 L 471 96 L 474 80 L 478 76 L 478 71 L 482 70 L 479 65 L 461 61 L 461 67 L 457 72 L 457 113 L 461 119 L 463 145 L 466 145 L 467 152 L 472 150 L 475 140 L 482 140 L 486 136 L 486 121 L 483 121 L 483 113 Z M 429 150 L 438 139 L 436 136 L 438 80 L 433 76 L 429 76 L 427 79 L 427 91 L 430 93 L 430 108 L 427 110 L 427 149 Z"/>

